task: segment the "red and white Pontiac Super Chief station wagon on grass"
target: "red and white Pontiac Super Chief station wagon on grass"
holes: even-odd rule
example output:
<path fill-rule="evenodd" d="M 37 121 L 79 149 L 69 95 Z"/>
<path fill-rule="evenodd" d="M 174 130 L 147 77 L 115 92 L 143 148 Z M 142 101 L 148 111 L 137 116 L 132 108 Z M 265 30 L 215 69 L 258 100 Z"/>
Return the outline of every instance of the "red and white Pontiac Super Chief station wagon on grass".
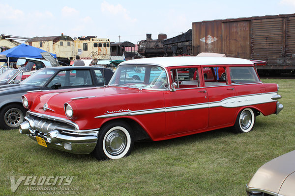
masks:
<path fill-rule="evenodd" d="M 225 77 L 218 77 L 220 71 Z M 136 59 L 121 63 L 108 86 L 24 95 L 29 111 L 19 130 L 45 147 L 118 159 L 138 140 L 224 127 L 249 132 L 257 115 L 283 109 L 277 91 L 278 85 L 262 83 L 245 59 Z"/>

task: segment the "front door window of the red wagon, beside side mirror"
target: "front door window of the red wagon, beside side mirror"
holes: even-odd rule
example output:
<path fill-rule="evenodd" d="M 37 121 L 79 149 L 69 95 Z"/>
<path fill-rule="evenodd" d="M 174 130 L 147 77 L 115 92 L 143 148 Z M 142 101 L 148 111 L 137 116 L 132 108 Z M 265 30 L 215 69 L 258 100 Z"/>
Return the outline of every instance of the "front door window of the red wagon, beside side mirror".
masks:
<path fill-rule="evenodd" d="M 199 87 L 198 68 L 182 68 L 171 70 L 172 81 L 177 84 L 177 88 L 196 88 Z"/>

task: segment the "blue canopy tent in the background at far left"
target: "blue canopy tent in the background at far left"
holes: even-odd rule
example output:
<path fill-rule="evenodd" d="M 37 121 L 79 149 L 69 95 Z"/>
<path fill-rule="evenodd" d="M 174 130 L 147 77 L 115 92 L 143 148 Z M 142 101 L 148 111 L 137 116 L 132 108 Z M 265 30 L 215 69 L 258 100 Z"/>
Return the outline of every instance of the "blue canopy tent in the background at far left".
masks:
<path fill-rule="evenodd" d="M 43 49 L 38 49 L 36 47 L 29 46 L 27 44 L 21 44 L 19 46 L 13 47 L 12 49 L 7 49 L 3 52 L 0 52 L 0 56 L 1 54 L 5 55 L 9 65 L 9 61 L 17 61 L 19 57 L 42 58 L 40 52 L 46 51 Z M 54 58 L 57 58 L 56 54 L 51 53 L 51 55 Z M 6 59 L 0 59 L 0 62 L 6 62 Z"/>

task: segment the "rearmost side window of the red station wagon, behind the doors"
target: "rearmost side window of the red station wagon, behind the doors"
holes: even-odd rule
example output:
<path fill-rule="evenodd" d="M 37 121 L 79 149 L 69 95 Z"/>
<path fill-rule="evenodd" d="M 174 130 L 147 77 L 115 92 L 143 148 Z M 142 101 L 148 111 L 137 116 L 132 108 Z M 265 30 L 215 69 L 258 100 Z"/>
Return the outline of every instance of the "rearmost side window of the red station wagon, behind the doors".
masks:
<path fill-rule="evenodd" d="M 260 82 L 254 67 L 230 67 L 233 84 Z"/>

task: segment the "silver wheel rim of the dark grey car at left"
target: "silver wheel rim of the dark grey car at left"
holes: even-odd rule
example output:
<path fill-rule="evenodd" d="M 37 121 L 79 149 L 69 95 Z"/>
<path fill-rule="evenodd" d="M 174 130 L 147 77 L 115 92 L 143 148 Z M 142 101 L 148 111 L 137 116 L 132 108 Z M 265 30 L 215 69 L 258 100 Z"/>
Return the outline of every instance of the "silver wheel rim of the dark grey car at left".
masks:
<path fill-rule="evenodd" d="M 24 120 L 24 115 L 20 109 L 11 108 L 9 109 L 4 116 L 4 122 L 9 127 L 15 128 L 18 127 Z"/>

